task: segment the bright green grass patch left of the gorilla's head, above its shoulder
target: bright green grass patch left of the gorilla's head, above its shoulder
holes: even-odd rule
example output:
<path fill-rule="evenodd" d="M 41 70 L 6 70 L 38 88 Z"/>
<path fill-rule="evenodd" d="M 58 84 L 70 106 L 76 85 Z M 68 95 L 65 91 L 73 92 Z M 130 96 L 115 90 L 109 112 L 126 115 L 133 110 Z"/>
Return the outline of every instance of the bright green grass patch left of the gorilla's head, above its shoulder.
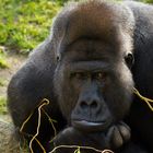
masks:
<path fill-rule="evenodd" d="M 0 45 L 28 52 L 49 34 L 60 5 L 50 0 L 0 0 Z"/>

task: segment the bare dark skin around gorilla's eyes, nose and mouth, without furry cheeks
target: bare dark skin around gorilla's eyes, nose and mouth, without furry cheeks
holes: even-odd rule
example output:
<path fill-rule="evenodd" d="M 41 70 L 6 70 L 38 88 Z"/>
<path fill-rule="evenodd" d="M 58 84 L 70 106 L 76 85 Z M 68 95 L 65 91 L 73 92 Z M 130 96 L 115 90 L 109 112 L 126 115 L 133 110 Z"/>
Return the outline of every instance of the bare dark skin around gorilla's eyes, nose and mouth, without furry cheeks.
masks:
<path fill-rule="evenodd" d="M 103 87 L 106 83 L 107 74 L 104 69 L 96 68 L 103 62 L 90 61 L 74 63 L 73 71 L 70 71 L 72 86 L 79 91 L 79 99 L 71 115 L 72 125 L 84 130 L 103 130 L 113 118 L 105 104 Z M 91 69 L 94 68 L 94 69 Z M 76 85 L 75 85 L 76 84 Z M 106 111 L 105 116 L 98 117 L 99 111 Z"/>

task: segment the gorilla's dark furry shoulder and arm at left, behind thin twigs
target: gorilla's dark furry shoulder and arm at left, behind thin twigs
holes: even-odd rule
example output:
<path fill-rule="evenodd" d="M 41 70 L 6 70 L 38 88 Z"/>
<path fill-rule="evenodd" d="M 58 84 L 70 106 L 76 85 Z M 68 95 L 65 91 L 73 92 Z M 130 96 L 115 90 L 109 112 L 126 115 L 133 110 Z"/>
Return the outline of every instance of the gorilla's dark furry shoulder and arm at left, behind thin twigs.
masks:
<path fill-rule="evenodd" d="M 64 126 L 62 115 L 58 109 L 58 104 L 54 94 L 54 51 L 48 38 L 33 51 L 26 63 L 14 74 L 8 87 L 8 106 L 17 132 L 23 121 L 45 97 L 50 101 L 50 104 L 45 107 L 46 113 L 52 119 L 60 119 L 58 120 L 59 125 L 57 126 L 57 130 Z M 50 139 L 48 136 L 50 137 L 50 130 L 52 129 L 44 114 L 42 118 L 44 123 L 42 123 L 43 132 L 40 133 L 44 134 L 43 138 L 48 140 Z M 37 113 L 28 120 L 23 131 L 35 133 L 36 127 Z"/>

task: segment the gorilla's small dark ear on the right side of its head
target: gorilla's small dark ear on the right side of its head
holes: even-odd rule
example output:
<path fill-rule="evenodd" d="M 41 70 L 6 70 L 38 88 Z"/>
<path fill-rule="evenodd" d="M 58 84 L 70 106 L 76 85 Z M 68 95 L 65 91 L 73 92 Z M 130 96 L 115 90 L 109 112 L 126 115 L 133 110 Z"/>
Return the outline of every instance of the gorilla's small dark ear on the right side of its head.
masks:
<path fill-rule="evenodd" d="M 133 54 L 132 52 L 127 52 L 125 55 L 125 61 L 126 61 L 127 66 L 129 67 L 129 69 L 131 69 L 131 67 L 134 63 Z"/>

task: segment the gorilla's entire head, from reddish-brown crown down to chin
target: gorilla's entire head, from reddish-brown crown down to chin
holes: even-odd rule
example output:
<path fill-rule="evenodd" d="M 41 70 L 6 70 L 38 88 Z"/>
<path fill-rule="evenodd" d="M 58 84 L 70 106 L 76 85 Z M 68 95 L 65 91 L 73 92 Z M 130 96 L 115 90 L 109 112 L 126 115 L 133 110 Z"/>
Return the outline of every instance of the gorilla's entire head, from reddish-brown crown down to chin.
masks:
<path fill-rule="evenodd" d="M 131 104 L 133 16 L 121 4 L 68 4 L 51 40 L 57 58 L 55 90 L 69 125 L 101 131 L 122 119 Z"/>

